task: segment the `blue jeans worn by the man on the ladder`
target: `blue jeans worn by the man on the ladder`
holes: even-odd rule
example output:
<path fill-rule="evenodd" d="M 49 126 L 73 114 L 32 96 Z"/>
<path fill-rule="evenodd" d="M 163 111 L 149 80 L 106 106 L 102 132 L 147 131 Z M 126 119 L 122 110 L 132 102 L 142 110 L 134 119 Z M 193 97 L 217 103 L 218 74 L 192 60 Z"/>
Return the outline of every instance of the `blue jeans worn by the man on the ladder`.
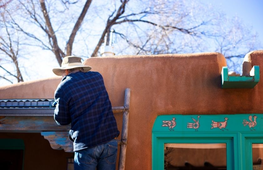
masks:
<path fill-rule="evenodd" d="M 115 170 L 117 149 L 118 141 L 112 139 L 108 143 L 76 151 L 74 170 Z"/>

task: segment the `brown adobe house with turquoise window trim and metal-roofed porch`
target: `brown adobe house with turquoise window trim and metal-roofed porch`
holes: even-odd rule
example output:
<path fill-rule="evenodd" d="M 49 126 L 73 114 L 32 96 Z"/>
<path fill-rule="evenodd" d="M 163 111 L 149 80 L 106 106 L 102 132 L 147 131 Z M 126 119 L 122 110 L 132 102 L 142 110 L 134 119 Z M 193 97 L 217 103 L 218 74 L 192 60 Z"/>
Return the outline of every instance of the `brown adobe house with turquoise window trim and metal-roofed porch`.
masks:
<path fill-rule="evenodd" d="M 244 63 L 244 75 L 231 77 L 220 53 L 84 62 L 102 74 L 113 107 L 124 106 L 125 89 L 130 89 L 127 170 L 262 169 L 263 50 L 248 53 Z M 0 87 L 0 155 L 10 157 L 0 162 L 17 158 L 24 170 L 71 166 L 70 126 L 56 125 L 54 108 L 46 107 L 60 80 Z M 115 117 L 121 130 L 122 113 Z"/>

